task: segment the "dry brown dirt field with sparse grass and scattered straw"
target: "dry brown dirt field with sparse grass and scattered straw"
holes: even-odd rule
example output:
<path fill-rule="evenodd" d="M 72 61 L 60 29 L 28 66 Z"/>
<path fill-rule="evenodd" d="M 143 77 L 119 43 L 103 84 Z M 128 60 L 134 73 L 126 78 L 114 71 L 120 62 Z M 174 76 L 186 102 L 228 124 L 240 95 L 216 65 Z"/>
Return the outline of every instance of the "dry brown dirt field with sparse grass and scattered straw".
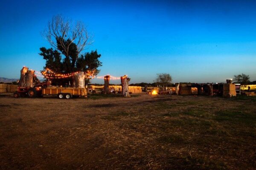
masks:
<path fill-rule="evenodd" d="M 256 98 L 0 96 L 0 169 L 256 169 Z"/>

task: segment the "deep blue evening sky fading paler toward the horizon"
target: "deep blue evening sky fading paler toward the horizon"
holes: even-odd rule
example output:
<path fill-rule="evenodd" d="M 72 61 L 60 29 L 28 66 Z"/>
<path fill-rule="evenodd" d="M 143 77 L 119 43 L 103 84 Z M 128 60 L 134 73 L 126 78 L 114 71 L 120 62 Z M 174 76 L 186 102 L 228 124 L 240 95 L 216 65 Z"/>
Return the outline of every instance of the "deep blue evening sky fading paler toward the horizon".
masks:
<path fill-rule="evenodd" d="M 0 9 L 0 77 L 19 78 L 22 66 L 43 69 L 39 48 L 50 46 L 41 32 L 62 14 L 94 35 L 87 51 L 102 55 L 99 75 L 126 74 L 131 83 L 162 72 L 174 82 L 224 82 L 241 73 L 256 80 L 255 0 L 1 0 Z"/>

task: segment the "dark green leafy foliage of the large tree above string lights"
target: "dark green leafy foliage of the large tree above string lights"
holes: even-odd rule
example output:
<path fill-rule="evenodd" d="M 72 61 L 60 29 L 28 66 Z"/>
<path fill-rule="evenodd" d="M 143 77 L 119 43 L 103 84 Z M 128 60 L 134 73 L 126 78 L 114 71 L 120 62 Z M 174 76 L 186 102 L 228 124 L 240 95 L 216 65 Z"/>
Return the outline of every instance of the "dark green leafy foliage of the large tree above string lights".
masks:
<path fill-rule="evenodd" d="M 69 40 L 67 40 L 69 41 Z M 44 60 L 46 60 L 45 68 L 49 68 L 54 72 L 58 73 L 70 73 L 76 71 L 84 71 L 87 70 L 96 70 L 95 75 L 99 73 L 99 66 L 102 66 L 102 63 L 99 61 L 101 57 L 96 51 L 87 52 L 85 55 L 78 56 L 76 44 L 71 43 L 70 49 L 68 51 L 68 55 L 65 55 L 63 48 L 59 45 L 57 50 L 53 50 L 52 48 L 46 49 L 45 47 L 41 47 L 39 55 L 43 56 Z M 62 59 L 61 55 L 64 56 Z M 71 78 L 66 79 L 58 79 L 53 80 L 52 84 L 54 85 L 64 85 L 72 82 Z M 89 80 L 86 80 L 88 83 Z"/>

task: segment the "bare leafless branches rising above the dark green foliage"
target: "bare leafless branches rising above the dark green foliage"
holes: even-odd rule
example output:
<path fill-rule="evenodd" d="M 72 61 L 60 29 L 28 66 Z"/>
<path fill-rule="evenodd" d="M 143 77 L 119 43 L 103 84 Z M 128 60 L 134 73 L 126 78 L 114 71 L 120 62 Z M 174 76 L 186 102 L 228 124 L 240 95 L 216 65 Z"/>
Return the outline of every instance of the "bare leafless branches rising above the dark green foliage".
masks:
<path fill-rule="evenodd" d="M 77 47 L 78 55 L 87 45 L 92 43 L 92 36 L 87 32 L 86 26 L 81 21 L 73 22 L 61 15 L 52 17 L 44 30 L 43 36 L 53 48 L 59 49 L 58 46 L 61 46 L 65 56 L 69 55 L 70 46 L 73 43 Z"/>

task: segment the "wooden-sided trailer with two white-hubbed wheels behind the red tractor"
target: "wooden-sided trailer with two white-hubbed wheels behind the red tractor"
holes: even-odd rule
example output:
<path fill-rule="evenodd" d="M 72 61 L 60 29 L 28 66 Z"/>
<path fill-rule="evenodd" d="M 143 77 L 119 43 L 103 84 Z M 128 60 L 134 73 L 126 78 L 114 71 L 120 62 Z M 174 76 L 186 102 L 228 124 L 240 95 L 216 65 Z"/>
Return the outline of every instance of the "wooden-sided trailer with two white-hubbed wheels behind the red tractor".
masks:
<path fill-rule="evenodd" d="M 73 96 L 86 96 L 87 91 L 85 88 L 73 88 L 73 87 L 43 87 L 42 95 L 57 95 L 58 98 L 70 99 Z"/>

